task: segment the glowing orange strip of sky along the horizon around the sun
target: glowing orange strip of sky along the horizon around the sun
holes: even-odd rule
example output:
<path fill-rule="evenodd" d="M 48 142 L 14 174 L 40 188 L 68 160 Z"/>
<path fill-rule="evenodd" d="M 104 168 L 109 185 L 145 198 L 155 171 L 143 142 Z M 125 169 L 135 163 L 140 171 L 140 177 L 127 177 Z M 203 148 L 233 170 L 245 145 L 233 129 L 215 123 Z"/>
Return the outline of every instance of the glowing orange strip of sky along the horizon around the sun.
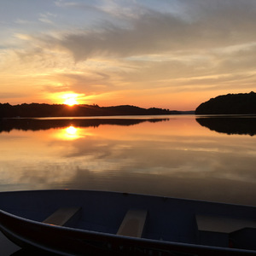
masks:
<path fill-rule="evenodd" d="M 166 93 L 165 93 L 166 92 Z M 9 103 L 10 105 L 46 103 L 46 104 L 65 104 L 69 107 L 75 105 L 98 105 L 100 107 L 111 107 L 120 105 L 137 106 L 139 108 L 166 108 L 169 110 L 177 111 L 192 111 L 195 110 L 201 103 L 207 102 L 211 98 L 220 95 L 226 95 L 229 93 L 249 93 L 250 90 L 219 90 L 219 91 L 207 91 L 205 93 L 198 93 L 193 91 L 183 91 L 168 93 L 168 91 L 161 92 L 160 90 L 154 95 L 143 95 L 143 93 L 131 90 L 125 91 L 124 95 L 119 92 L 115 93 L 102 93 L 99 95 L 85 96 L 75 92 L 58 92 L 53 94 L 44 94 L 41 97 L 31 99 L 27 97 L 24 100 L 12 101 L 6 98 L 0 103 Z"/>

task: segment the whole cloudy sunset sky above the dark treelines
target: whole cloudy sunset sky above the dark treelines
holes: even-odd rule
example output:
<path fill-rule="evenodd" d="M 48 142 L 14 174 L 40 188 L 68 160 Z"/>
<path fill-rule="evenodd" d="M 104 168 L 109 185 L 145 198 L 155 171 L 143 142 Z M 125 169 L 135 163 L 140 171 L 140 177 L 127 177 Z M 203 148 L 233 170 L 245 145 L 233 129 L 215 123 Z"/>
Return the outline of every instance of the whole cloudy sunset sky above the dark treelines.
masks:
<path fill-rule="evenodd" d="M 255 0 L 0 0 L 0 103 L 194 110 L 255 91 Z"/>

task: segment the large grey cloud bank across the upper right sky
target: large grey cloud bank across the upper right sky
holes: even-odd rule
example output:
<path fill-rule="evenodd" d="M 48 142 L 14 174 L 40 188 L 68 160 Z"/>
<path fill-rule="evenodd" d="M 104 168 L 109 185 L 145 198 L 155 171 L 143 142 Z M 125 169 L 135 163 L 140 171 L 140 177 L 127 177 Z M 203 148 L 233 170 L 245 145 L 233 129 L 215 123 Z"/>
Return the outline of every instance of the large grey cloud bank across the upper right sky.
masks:
<path fill-rule="evenodd" d="M 194 4 L 181 1 L 186 3 L 183 16 L 148 9 L 136 18 L 126 17 L 126 26 L 108 21 L 100 29 L 67 33 L 59 42 L 52 43 L 70 51 L 76 61 L 84 61 L 95 56 L 164 54 L 256 40 L 255 2 L 191 2 Z"/>

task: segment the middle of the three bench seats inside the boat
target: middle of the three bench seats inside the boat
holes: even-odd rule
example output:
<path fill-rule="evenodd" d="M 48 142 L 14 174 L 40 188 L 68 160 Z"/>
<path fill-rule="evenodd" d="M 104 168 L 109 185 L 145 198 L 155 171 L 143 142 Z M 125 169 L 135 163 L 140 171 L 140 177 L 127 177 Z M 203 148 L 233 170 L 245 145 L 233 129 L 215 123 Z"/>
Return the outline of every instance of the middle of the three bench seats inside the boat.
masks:
<path fill-rule="evenodd" d="M 120 224 L 117 235 L 142 237 L 148 211 L 129 210 Z"/>

